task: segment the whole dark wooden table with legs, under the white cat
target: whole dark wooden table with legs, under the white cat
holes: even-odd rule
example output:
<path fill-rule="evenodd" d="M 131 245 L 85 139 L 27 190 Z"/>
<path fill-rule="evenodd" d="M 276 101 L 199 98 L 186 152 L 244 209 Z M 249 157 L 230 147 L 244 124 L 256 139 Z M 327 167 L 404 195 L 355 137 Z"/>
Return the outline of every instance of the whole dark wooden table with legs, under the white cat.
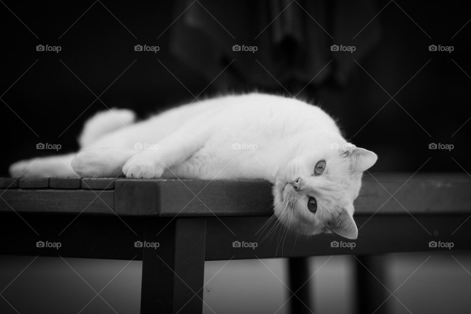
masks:
<path fill-rule="evenodd" d="M 466 174 L 366 175 L 355 209 L 355 241 L 290 233 L 282 241 L 284 230 L 259 232 L 273 213 L 265 181 L 4 178 L 0 253 L 142 260 L 141 313 L 182 314 L 202 311 L 205 261 L 281 257 L 292 312 L 311 313 L 306 257 L 349 254 L 358 311 L 371 313 L 387 297 L 375 288 L 384 269 L 373 255 L 448 250 L 449 242 L 450 252 L 471 249 Z M 47 247 L 54 242 L 60 247 Z"/>

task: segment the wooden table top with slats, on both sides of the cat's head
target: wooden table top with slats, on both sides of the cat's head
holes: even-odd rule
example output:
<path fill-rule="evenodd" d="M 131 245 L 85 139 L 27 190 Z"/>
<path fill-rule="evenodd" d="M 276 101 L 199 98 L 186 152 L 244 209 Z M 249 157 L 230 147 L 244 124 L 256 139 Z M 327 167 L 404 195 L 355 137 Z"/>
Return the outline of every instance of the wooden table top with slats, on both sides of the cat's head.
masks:
<path fill-rule="evenodd" d="M 263 180 L 0 178 L 0 212 L 123 216 L 268 216 Z M 356 215 L 471 214 L 471 177 L 458 173 L 364 176 Z"/>

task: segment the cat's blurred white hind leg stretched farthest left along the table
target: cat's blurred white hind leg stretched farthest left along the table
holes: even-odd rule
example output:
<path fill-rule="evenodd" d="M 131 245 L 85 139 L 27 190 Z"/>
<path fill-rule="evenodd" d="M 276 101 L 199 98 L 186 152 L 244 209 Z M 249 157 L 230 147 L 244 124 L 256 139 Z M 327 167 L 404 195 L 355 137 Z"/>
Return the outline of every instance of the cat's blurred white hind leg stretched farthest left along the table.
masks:
<path fill-rule="evenodd" d="M 78 177 L 71 166 L 75 154 L 37 157 L 10 165 L 12 177 Z"/>

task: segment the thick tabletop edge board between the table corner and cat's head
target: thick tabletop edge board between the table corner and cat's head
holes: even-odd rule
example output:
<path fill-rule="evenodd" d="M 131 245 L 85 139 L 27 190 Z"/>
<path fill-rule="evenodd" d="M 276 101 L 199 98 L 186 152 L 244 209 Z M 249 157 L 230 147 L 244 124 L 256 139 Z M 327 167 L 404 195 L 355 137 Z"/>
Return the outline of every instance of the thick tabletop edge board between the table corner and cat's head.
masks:
<path fill-rule="evenodd" d="M 118 179 L 116 206 L 122 215 L 212 216 L 211 211 L 218 215 L 269 215 L 271 196 L 265 196 L 270 189 L 262 180 Z"/>

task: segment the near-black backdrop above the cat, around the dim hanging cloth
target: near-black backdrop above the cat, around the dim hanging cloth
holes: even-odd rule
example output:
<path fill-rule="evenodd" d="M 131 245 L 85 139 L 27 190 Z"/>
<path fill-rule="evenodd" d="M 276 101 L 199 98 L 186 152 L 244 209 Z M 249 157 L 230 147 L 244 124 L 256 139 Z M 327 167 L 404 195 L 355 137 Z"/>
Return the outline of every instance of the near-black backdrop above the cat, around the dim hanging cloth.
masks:
<path fill-rule="evenodd" d="M 224 6 L 229 10 L 235 2 L 240 3 L 219 2 L 216 6 Z M 102 1 L 91 6 L 92 3 L 94 2 L 5 2 L 31 31 L 9 9 L 0 5 L 0 93 L 6 91 L 1 97 L 4 103 L 0 103 L 0 131 L 4 134 L 0 175 L 7 175 L 8 165 L 18 159 L 54 154 L 54 151 L 36 150 L 38 142 L 59 143 L 62 145 L 60 153 L 77 150 L 76 138 L 83 122 L 96 111 L 105 110 L 105 105 L 130 107 L 141 118 L 145 118 L 161 108 L 193 100 L 189 91 L 198 95 L 215 77 L 209 78 L 171 51 L 170 41 L 174 34 L 172 27 L 177 24 L 163 31 L 183 11 L 178 10 L 176 3 Z M 210 2 L 201 3 L 211 7 Z M 257 5 L 251 5 L 250 1 L 246 3 L 248 9 L 252 7 L 257 10 L 258 6 L 269 1 L 258 1 Z M 373 1 L 373 12 L 378 13 L 386 4 L 388 1 Z M 360 6 L 359 10 L 361 9 Z M 209 11 L 218 12 L 217 8 Z M 254 12 L 242 15 L 241 25 L 247 23 Z M 364 25 L 373 16 L 369 16 Z M 238 26 L 224 25 L 224 16 L 214 17 L 230 33 L 238 34 Z M 469 170 L 471 160 L 466 156 L 470 153 L 467 135 L 471 123 L 465 122 L 471 116 L 468 92 L 471 78 L 465 72 L 471 73 L 471 61 L 468 57 L 471 26 L 464 26 L 469 19 L 466 1 L 448 1 L 446 5 L 443 2 L 429 1 L 390 2 L 374 19 L 374 23 L 364 30 L 366 32 L 368 27 L 374 26 L 380 27 L 381 31 L 377 44 L 357 60 L 372 78 L 355 64 L 344 84 L 324 80 L 309 85 L 299 96 L 322 104 L 338 118 L 346 138 L 357 146 L 378 153 L 380 158 L 372 169 L 373 172 L 414 172 L 429 157 L 432 158 L 421 171 L 463 171 L 457 163 Z M 269 16 L 267 21 L 270 21 Z M 325 23 L 325 28 L 331 32 L 328 23 Z M 259 29 L 255 29 L 254 33 L 263 29 L 263 26 L 257 27 Z M 354 29 L 353 32 L 360 29 Z M 264 40 L 264 36 L 270 36 L 270 32 L 268 27 L 257 40 L 238 35 L 233 42 L 257 45 Z M 362 34 L 355 40 L 361 40 Z M 58 39 L 59 37 L 61 38 Z M 335 43 L 335 37 L 332 42 Z M 62 51 L 37 52 L 35 47 L 38 44 L 60 45 Z M 136 44 L 158 45 L 160 51 L 156 54 L 135 52 L 133 46 Z M 428 46 L 431 44 L 452 45 L 454 51 L 429 52 Z M 192 47 L 188 49 L 191 50 Z M 226 70 L 227 73 L 237 69 L 237 56 L 242 54 L 236 55 L 235 61 Z M 247 54 L 243 56 L 246 58 Z M 253 54 L 253 58 L 261 64 L 265 62 L 263 56 L 262 52 Z M 356 59 L 355 53 L 346 53 L 345 57 Z M 229 56 L 220 62 L 224 64 L 230 59 Z M 253 67 L 261 65 L 254 62 Z M 271 69 L 267 70 L 275 73 Z M 302 80 L 280 81 L 276 78 L 285 86 L 283 88 L 275 78 L 270 76 L 263 85 L 254 86 L 255 84 L 247 82 L 244 86 L 243 81 L 231 85 L 231 81 L 221 75 L 201 96 L 255 88 L 287 94 L 286 88 L 295 94 L 299 86 L 307 83 Z M 394 97 L 399 105 L 393 100 L 385 105 L 390 97 L 373 78 L 391 96 L 411 78 L 412 80 Z M 97 96 L 106 89 L 100 97 L 103 103 L 96 100 L 92 104 L 96 97 L 85 85 Z M 460 131 L 456 132 L 460 127 Z M 453 133 L 455 135 L 451 137 Z M 431 142 L 451 143 L 454 149 L 451 152 L 429 150 Z"/>

